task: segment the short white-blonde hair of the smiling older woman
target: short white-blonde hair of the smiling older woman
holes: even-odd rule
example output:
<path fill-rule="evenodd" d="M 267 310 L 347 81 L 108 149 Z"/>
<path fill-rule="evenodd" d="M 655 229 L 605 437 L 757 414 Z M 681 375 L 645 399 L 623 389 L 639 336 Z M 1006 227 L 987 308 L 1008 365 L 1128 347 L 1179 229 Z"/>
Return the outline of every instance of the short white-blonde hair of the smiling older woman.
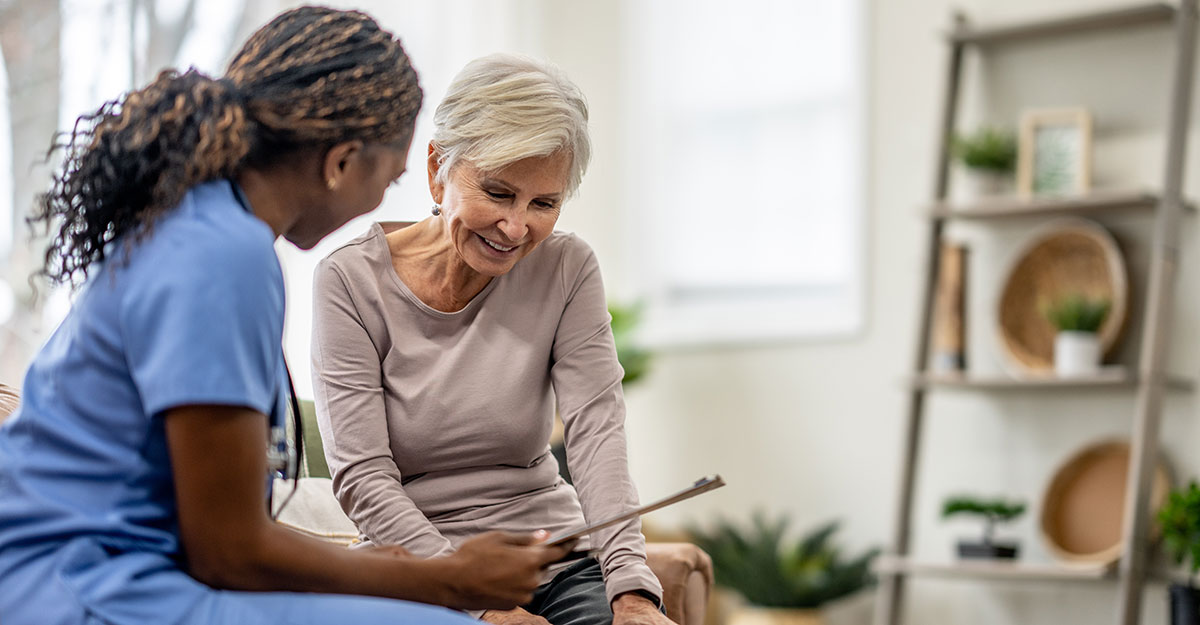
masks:
<path fill-rule="evenodd" d="M 592 158 L 588 104 L 556 65 L 517 54 L 491 54 L 458 72 L 433 113 L 436 180 L 468 162 L 497 172 L 523 158 L 571 157 L 566 196 L 583 181 Z"/>

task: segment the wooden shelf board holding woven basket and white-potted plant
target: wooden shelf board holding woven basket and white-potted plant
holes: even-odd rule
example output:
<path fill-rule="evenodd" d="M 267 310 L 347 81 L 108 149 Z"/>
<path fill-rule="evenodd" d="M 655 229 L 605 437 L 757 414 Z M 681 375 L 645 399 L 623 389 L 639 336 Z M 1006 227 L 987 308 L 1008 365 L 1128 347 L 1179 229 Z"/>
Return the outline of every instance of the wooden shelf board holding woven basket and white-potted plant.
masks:
<path fill-rule="evenodd" d="M 1096 375 L 1086 378 L 1058 378 L 1055 375 L 1013 377 L 1002 373 L 920 373 L 912 378 L 913 389 L 964 389 L 985 391 L 1032 391 L 1032 390 L 1078 390 L 1078 389 L 1133 389 L 1138 378 L 1126 367 L 1104 367 Z M 1172 390 L 1190 391 L 1194 383 L 1190 379 L 1168 375 L 1166 386 Z"/>

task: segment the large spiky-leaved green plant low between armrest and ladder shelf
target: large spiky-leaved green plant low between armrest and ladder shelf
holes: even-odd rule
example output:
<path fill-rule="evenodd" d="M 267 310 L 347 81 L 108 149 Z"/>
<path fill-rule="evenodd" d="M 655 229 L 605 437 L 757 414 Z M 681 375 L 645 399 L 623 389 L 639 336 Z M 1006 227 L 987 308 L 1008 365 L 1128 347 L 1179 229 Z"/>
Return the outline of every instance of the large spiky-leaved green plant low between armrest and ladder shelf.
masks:
<path fill-rule="evenodd" d="M 690 528 L 692 541 L 713 558 L 719 587 L 740 594 L 748 606 L 728 625 L 817 625 L 817 608 L 874 583 L 878 549 L 846 559 L 833 545 L 840 523 L 826 523 L 794 542 L 785 540 L 787 517 L 756 513 L 749 528 L 719 521 L 712 530 Z"/>

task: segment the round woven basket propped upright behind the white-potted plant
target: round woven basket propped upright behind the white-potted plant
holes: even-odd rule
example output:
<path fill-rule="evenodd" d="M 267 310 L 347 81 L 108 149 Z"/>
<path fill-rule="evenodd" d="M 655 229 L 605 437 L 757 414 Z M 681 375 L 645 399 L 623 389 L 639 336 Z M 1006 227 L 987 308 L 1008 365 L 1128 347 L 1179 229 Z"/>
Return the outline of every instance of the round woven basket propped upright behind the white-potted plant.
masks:
<path fill-rule="evenodd" d="M 1054 371 L 1057 330 L 1045 318 L 1044 308 L 1069 295 L 1111 302 L 1099 331 L 1100 349 L 1109 354 L 1124 329 L 1129 293 L 1121 250 L 1096 222 L 1052 222 L 1018 248 L 996 314 L 1002 351 L 1018 372 Z"/>

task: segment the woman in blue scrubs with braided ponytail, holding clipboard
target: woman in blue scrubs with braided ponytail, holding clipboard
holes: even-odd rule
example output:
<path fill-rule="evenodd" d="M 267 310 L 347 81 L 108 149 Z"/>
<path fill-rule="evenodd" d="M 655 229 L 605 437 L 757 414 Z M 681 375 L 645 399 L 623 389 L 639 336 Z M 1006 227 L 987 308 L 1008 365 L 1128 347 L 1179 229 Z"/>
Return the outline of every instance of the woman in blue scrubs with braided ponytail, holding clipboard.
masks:
<path fill-rule="evenodd" d="M 389 32 L 305 7 L 224 78 L 164 72 L 80 118 L 36 220 L 58 228 L 47 275 L 83 287 L 0 428 L 0 624 L 437 625 L 469 619 L 410 601 L 530 599 L 564 554 L 538 535 L 421 560 L 265 504 L 287 397 L 272 245 L 374 209 L 420 102 Z"/>

